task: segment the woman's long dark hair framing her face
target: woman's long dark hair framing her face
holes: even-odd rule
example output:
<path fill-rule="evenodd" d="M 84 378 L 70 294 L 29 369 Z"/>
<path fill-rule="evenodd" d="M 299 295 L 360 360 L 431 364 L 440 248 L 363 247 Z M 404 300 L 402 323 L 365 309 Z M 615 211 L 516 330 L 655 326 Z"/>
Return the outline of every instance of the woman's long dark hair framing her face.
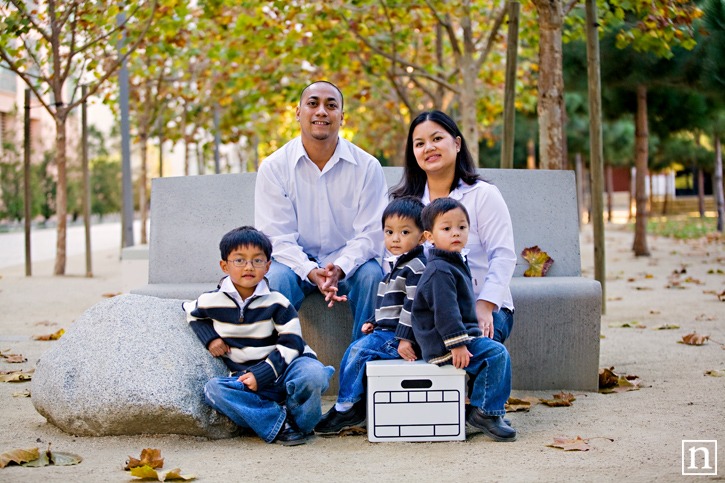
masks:
<path fill-rule="evenodd" d="M 400 183 L 393 186 L 390 190 L 390 196 L 395 199 L 401 196 L 417 196 L 418 198 L 423 196 L 425 191 L 425 183 L 427 176 L 425 171 L 418 166 L 418 161 L 415 159 L 415 152 L 413 151 L 413 131 L 425 121 L 433 121 L 439 124 L 443 129 L 448 131 L 448 134 L 461 138 L 461 150 L 456 155 L 456 171 L 453 175 L 453 183 L 451 184 L 451 191 L 456 189 L 458 182 L 463 180 L 466 184 L 473 184 L 481 177 L 476 173 L 476 165 L 473 163 L 470 151 L 466 145 L 466 140 L 463 138 L 463 134 L 456 126 L 456 123 L 447 114 L 441 111 L 430 111 L 420 114 L 418 117 L 413 119 L 410 123 L 410 129 L 408 129 L 408 142 L 405 145 L 405 167 L 403 169 L 403 179 Z"/>

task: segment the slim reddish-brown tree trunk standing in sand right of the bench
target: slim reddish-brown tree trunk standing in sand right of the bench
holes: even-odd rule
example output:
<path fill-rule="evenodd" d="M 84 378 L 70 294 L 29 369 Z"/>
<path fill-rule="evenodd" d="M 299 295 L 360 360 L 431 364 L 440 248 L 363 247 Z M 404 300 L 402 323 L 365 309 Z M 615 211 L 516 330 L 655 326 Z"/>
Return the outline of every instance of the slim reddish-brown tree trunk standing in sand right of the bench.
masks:
<path fill-rule="evenodd" d="M 649 128 L 647 125 L 647 87 L 637 86 L 637 119 L 634 129 L 635 162 L 637 166 L 636 200 L 637 218 L 634 228 L 634 254 L 638 257 L 650 255 L 647 248 L 647 164 L 649 157 Z"/>

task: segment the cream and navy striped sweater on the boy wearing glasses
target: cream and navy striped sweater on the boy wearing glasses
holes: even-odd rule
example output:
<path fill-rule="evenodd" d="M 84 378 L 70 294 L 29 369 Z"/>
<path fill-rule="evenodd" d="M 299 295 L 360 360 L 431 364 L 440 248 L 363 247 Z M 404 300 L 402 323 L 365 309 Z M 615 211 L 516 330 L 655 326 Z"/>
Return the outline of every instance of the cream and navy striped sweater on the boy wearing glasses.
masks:
<path fill-rule="evenodd" d="M 204 346 L 221 338 L 231 349 L 224 355 L 229 370 L 251 372 L 259 388 L 273 384 L 295 358 L 303 354 L 316 358 L 302 339 L 297 311 L 279 292 L 253 296 L 240 310 L 217 289 L 184 302 L 183 308 Z"/>

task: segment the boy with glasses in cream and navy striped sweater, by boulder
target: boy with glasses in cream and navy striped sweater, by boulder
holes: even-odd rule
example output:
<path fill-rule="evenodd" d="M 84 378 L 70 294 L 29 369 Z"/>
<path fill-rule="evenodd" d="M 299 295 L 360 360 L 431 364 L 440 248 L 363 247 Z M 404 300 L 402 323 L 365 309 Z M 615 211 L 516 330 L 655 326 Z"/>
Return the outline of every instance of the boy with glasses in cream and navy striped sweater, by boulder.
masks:
<path fill-rule="evenodd" d="M 267 287 L 269 238 L 243 226 L 224 235 L 219 249 L 227 276 L 183 304 L 199 340 L 231 371 L 206 384 L 206 402 L 267 443 L 304 444 L 322 417 L 334 369 L 305 344 L 294 306 Z"/>

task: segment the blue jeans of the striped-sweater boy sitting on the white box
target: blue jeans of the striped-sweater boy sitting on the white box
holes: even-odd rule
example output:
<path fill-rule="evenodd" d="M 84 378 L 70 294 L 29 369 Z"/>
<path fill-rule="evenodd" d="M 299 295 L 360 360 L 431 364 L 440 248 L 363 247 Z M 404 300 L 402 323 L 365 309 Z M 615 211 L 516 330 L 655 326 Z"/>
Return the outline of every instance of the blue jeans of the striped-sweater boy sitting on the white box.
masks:
<path fill-rule="evenodd" d="M 337 402 L 358 402 L 365 394 L 365 363 L 388 359 L 400 359 L 393 331 L 376 330 L 350 344 L 340 362 Z"/>

